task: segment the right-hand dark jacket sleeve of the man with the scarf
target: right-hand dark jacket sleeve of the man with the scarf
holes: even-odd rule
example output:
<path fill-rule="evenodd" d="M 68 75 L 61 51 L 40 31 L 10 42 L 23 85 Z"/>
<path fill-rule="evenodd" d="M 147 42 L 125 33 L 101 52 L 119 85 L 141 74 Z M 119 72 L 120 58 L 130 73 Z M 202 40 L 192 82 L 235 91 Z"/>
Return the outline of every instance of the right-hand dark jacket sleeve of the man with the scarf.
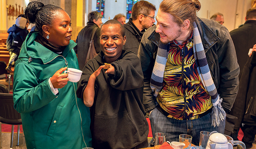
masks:
<path fill-rule="evenodd" d="M 238 93 L 238 84 L 240 68 L 237 63 L 236 50 L 233 40 L 230 37 L 228 29 L 220 30 L 220 46 L 218 46 L 218 63 L 220 68 L 220 78 L 218 93 L 222 97 L 222 107 L 228 112 L 236 99 Z"/>

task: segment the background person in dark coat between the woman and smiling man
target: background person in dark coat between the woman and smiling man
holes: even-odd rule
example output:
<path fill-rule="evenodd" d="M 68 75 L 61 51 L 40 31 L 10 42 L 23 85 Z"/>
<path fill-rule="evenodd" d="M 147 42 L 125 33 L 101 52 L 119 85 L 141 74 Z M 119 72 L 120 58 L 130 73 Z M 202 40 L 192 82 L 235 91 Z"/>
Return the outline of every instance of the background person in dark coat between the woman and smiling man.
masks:
<path fill-rule="evenodd" d="M 77 59 L 79 61 L 79 68 L 82 70 L 85 66 L 85 59 L 90 45 L 90 38 L 92 37 L 92 31 L 97 27 L 97 30 L 94 34 L 94 47 L 97 53 L 100 53 L 100 26 L 102 15 L 100 12 L 92 11 L 88 14 L 88 22 L 86 27 L 84 27 L 77 35 L 76 43 L 77 46 L 74 48 L 77 53 Z"/>

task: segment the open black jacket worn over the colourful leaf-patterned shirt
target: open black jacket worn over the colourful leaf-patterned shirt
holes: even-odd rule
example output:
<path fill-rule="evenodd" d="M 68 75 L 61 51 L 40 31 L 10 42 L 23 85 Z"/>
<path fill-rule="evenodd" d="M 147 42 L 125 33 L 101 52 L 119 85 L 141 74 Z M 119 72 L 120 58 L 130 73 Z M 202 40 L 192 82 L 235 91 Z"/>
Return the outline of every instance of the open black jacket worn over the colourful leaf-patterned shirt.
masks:
<path fill-rule="evenodd" d="M 210 74 L 218 94 L 223 99 L 221 105 L 228 112 L 237 96 L 240 73 L 233 41 L 224 25 L 213 20 L 199 18 L 197 18 L 196 24 L 203 42 Z M 144 33 L 138 51 L 144 75 L 143 104 L 146 112 L 156 107 L 155 97 L 150 88 L 150 78 L 160 39 L 155 28 L 153 26 Z"/>

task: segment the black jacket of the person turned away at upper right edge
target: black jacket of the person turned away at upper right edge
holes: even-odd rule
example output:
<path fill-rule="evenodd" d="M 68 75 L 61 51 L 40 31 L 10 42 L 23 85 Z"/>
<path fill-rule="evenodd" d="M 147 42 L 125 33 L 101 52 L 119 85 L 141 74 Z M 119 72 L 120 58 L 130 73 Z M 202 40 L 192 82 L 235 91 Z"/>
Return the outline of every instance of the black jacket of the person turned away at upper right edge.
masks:
<path fill-rule="evenodd" d="M 231 31 L 230 36 L 236 48 L 237 62 L 242 73 L 243 66 L 249 59 L 249 49 L 256 44 L 256 20 L 247 20 L 242 27 Z"/>

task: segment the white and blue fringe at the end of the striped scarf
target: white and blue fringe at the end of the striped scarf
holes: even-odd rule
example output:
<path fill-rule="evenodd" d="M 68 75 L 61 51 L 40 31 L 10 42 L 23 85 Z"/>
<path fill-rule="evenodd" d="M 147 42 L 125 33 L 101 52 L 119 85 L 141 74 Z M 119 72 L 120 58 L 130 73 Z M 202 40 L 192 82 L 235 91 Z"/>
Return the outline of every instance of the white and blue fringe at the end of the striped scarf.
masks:
<path fill-rule="evenodd" d="M 217 102 L 218 104 L 213 106 L 212 113 L 210 113 L 210 115 L 212 116 L 213 127 L 219 126 L 220 122 L 224 121 L 226 117 L 226 112 L 221 106 L 222 99 Z"/>

